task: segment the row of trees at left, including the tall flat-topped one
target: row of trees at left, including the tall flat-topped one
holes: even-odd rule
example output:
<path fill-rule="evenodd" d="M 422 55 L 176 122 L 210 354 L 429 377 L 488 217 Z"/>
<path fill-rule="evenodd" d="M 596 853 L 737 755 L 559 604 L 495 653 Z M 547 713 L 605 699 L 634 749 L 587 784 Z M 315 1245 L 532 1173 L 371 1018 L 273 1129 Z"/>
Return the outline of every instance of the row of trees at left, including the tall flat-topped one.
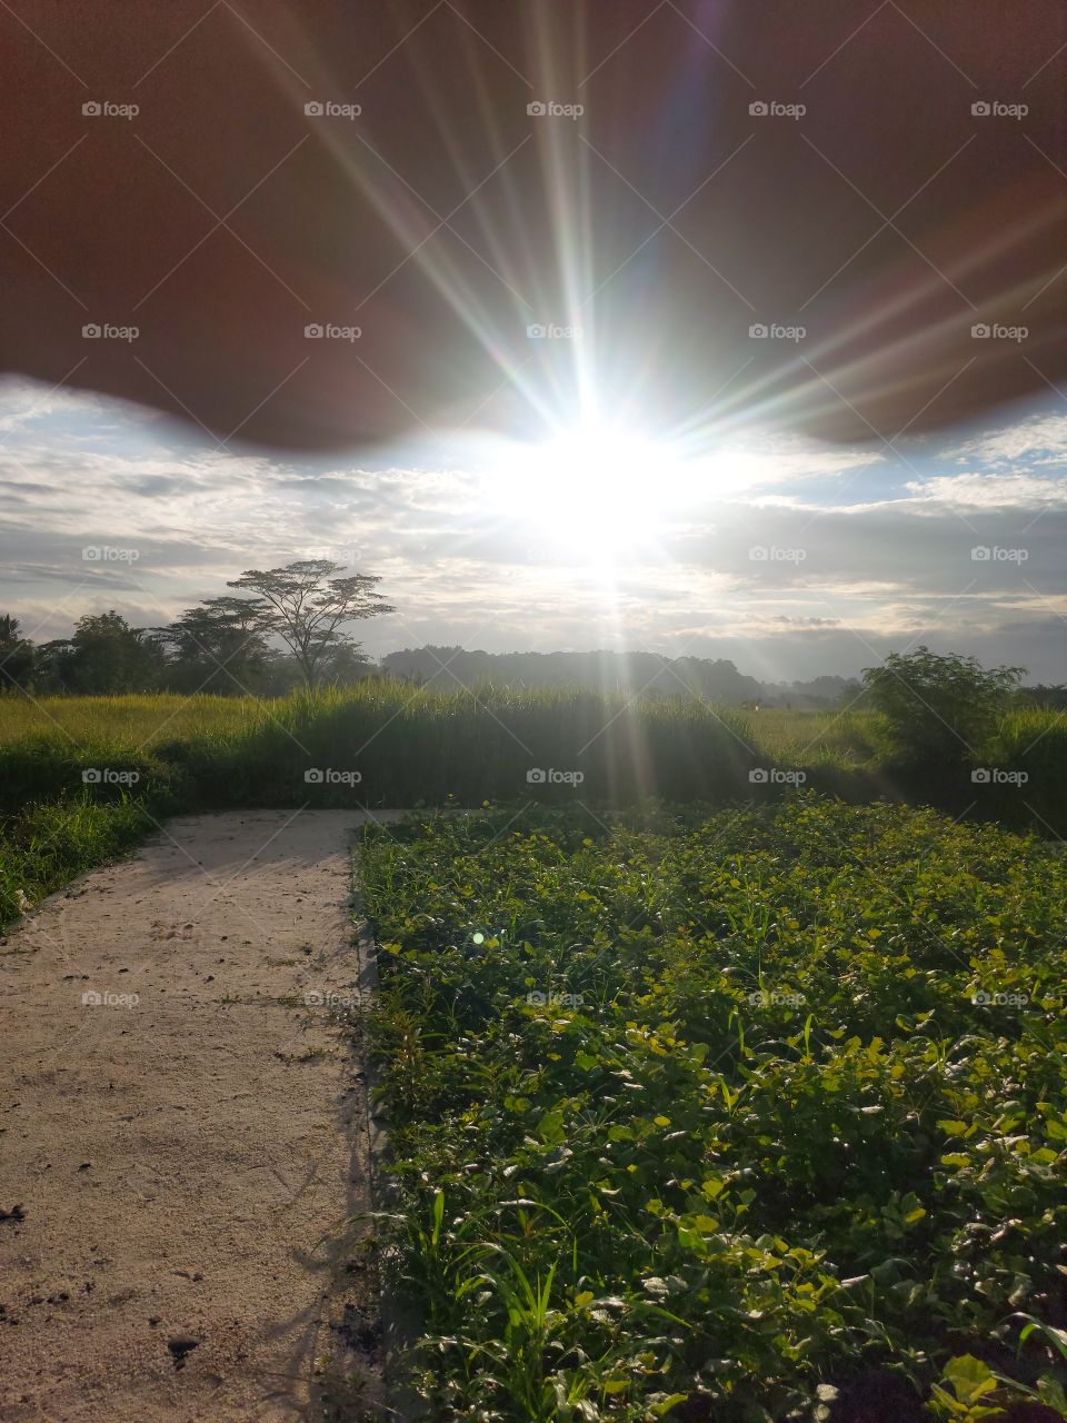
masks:
<path fill-rule="evenodd" d="M 370 573 L 329 559 L 248 569 L 164 628 L 131 628 L 115 609 L 80 618 L 70 638 L 34 643 L 0 616 L 4 689 L 111 696 L 211 692 L 279 696 L 296 686 L 349 683 L 370 659 L 351 625 L 394 612 Z"/>

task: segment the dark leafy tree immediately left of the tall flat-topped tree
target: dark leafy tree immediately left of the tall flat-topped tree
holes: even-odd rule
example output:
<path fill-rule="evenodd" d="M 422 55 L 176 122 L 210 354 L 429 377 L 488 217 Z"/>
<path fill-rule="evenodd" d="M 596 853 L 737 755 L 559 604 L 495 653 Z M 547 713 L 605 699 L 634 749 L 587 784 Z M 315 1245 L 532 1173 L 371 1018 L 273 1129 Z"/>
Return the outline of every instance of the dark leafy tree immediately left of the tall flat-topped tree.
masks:
<path fill-rule="evenodd" d="M 246 598 L 209 598 L 186 608 L 169 628 L 152 629 L 166 656 L 166 683 L 176 692 L 262 690 L 270 653 Z"/>

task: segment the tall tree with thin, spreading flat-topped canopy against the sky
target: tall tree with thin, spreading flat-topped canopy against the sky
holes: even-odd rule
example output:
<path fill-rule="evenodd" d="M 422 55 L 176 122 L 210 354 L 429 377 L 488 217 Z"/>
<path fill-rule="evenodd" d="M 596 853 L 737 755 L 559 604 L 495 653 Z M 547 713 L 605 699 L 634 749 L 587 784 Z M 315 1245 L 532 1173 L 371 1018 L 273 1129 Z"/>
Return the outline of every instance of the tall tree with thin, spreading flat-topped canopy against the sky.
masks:
<path fill-rule="evenodd" d="M 243 601 L 250 625 L 282 639 L 309 687 L 340 647 L 359 649 L 360 643 L 344 632 L 346 623 L 396 610 L 374 592 L 380 578 L 370 573 L 334 576 L 340 572 L 340 564 L 313 558 L 266 572 L 253 568 L 226 585 L 248 588 L 256 595 Z"/>

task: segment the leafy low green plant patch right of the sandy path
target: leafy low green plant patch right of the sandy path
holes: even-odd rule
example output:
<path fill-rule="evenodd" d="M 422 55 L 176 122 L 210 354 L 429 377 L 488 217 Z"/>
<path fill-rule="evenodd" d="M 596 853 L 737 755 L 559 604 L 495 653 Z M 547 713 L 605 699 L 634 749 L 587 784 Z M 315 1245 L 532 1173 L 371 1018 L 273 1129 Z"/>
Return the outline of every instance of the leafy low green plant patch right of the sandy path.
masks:
<path fill-rule="evenodd" d="M 1058 847 L 817 797 L 630 821 L 359 852 L 432 1416 L 1067 1416 L 996 1407 L 1067 1379 L 1063 1332 L 1019 1348 L 1067 1325 Z"/>

